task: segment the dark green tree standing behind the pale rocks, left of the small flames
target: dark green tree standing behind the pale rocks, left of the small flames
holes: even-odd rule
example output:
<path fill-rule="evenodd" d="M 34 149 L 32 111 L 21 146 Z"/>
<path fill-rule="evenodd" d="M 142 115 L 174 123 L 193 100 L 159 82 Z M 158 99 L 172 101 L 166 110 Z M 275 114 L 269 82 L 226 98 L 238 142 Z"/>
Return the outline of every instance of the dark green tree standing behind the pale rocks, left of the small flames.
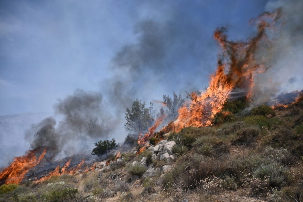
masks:
<path fill-rule="evenodd" d="M 150 107 L 145 107 L 145 102 L 141 102 L 136 99 L 132 102 L 132 108 L 126 109 L 124 125 L 125 130 L 132 132 L 132 136 L 138 136 L 140 133 L 144 134 L 148 131 L 148 128 L 154 122 L 154 111 L 153 106 L 150 103 Z"/>

